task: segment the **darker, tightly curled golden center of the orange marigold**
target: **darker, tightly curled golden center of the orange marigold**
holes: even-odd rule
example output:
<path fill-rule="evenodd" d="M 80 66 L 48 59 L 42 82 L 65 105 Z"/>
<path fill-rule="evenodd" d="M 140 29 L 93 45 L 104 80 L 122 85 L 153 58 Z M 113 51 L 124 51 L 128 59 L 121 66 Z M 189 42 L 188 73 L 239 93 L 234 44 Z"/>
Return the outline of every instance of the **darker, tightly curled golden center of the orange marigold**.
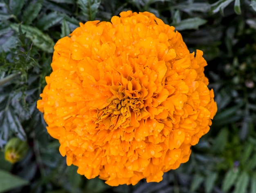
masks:
<path fill-rule="evenodd" d="M 131 80 L 124 85 L 111 86 L 110 91 L 113 95 L 105 108 L 98 109 L 95 123 L 104 124 L 108 129 L 134 126 L 131 116 L 144 107 L 144 89 L 141 89 L 139 82 Z"/>

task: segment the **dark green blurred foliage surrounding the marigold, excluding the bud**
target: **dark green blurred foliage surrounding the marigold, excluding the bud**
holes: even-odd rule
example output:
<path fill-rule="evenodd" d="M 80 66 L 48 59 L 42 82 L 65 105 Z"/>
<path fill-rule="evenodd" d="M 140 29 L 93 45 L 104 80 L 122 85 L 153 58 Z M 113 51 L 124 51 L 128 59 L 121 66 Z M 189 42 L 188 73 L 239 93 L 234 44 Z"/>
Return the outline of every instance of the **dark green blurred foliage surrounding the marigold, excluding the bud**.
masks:
<path fill-rule="evenodd" d="M 79 22 L 150 11 L 201 49 L 218 104 L 189 162 L 159 183 L 111 187 L 66 166 L 36 101 L 51 73 L 54 42 Z M 0 193 L 256 193 L 256 0 L 0 0 Z M 11 138 L 25 158 L 4 160 Z"/>

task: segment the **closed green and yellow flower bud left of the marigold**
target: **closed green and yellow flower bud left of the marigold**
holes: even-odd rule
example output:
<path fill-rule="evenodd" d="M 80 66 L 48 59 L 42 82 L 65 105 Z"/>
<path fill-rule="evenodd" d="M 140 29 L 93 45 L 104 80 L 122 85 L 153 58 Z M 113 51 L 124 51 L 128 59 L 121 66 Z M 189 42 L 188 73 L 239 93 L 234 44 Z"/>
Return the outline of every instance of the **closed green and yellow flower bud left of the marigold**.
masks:
<path fill-rule="evenodd" d="M 4 159 L 14 164 L 25 157 L 27 150 L 27 142 L 19 138 L 11 138 L 4 148 Z"/>

